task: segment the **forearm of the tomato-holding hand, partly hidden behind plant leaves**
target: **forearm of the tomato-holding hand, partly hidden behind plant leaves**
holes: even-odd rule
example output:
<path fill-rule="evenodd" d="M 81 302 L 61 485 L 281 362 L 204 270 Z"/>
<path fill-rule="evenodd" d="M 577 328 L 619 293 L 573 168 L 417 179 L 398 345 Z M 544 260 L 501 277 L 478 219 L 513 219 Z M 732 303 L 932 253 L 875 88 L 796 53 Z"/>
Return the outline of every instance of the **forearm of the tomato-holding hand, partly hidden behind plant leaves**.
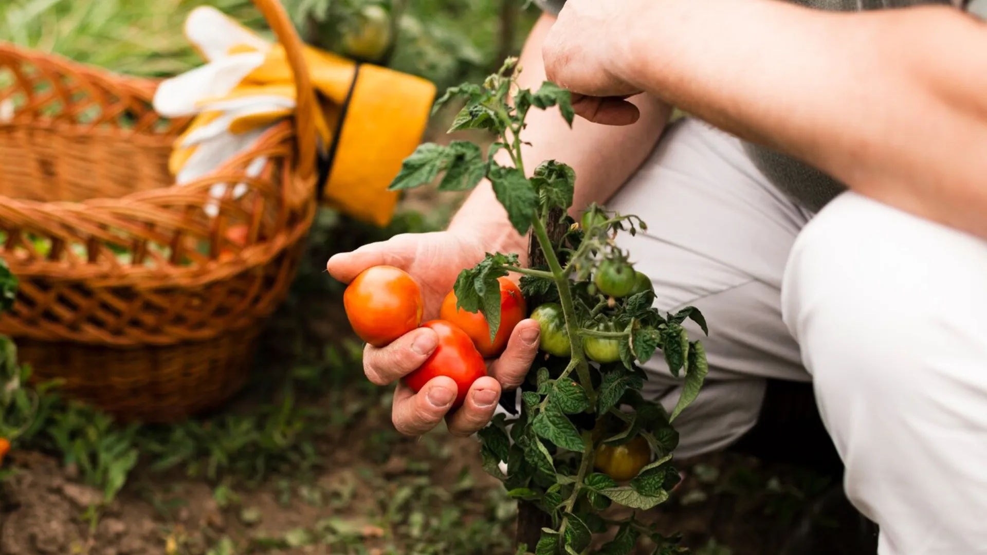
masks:
<path fill-rule="evenodd" d="M 543 17 L 532 30 L 519 64 L 521 88 L 537 89 L 545 81 L 542 41 L 554 18 Z M 575 170 L 573 211 L 590 202 L 605 202 L 637 171 L 645 161 L 668 119 L 670 109 L 649 95 L 635 99 L 641 119 L 634 125 L 614 127 L 576 119 L 572 128 L 558 109 L 531 110 L 522 138 L 524 168 L 530 175 L 545 160 L 558 160 Z M 501 151 L 498 163 L 510 161 Z M 450 230 L 483 233 L 488 250 L 523 254 L 527 238 L 518 235 L 507 222 L 506 212 L 493 196 L 490 183 L 484 182 L 470 195 L 453 217 Z"/>

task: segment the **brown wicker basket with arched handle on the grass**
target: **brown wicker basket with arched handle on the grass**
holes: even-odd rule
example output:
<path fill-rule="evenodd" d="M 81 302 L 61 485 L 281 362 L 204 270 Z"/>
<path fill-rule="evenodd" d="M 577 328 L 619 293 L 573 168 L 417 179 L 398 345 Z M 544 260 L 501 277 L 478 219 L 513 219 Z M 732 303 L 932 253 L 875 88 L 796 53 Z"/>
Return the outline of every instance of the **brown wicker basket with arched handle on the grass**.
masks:
<path fill-rule="evenodd" d="M 283 8 L 255 3 L 288 52 L 294 124 L 181 187 L 167 162 L 188 120 L 156 115 L 155 82 L 0 43 L 0 256 L 21 282 L 0 333 L 38 379 L 124 420 L 182 419 L 237 391 L 312 223 L 315 93 Z M 214 184 L 248 192 L 217 200 Z"/>

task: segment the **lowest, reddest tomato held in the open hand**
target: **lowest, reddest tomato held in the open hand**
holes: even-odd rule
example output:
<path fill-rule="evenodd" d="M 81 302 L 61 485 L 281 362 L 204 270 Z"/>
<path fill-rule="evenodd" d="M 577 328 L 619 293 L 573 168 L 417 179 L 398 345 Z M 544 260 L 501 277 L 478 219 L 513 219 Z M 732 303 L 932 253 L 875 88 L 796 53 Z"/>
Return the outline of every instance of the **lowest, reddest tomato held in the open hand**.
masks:
<path fill-rule="evenodd" d="M 435 330 L 438 334 L 438 347 L 424 364 L 405 376 L 405 384 L 418 393 L 433 377 L 451 377 L 458 388 L 452 408 L 458 408 L 466 400 L 466 394 L 473 382 L 487 375 L 487 362 L 473 346 L 470 336 L 449 322 L 431 320 L 421 324 L 421 327 Z"/>

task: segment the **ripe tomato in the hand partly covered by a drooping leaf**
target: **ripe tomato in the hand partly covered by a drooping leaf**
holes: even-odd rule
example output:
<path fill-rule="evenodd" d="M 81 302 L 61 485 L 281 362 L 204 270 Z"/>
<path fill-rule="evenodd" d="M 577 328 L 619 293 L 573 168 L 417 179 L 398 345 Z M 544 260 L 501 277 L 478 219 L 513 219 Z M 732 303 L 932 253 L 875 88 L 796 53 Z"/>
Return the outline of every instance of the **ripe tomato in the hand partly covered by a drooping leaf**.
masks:
<path fill-rule="evenodd" d="M 503 353 L 514 326 L 524 320 L 524 315 L 528 312 L 521 289 L 506 277 L 498 278 L 497 281 L 500 282 L 500 327 L 496 330 L 493 343 L 491 343 L 491 328 L 483 314 L 456 309 L 455 291 L 449 291 L 449 294 L 445 295 L 438 316 L 466 332 L 477 346 L 477 351 L 488 358 Z"/>

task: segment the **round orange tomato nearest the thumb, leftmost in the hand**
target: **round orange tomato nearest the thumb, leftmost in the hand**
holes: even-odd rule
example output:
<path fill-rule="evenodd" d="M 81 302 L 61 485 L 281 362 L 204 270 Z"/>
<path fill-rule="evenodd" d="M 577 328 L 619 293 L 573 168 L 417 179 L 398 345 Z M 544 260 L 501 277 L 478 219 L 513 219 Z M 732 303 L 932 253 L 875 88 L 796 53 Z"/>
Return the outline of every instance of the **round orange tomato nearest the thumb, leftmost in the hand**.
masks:
<path fill-rule="evenodd" d="M 424 307 L 415 279 L 393 266 L 364 270 L 342 293 L 342 304 L 353 331 L 374 347 L 418 328 Z"/>

